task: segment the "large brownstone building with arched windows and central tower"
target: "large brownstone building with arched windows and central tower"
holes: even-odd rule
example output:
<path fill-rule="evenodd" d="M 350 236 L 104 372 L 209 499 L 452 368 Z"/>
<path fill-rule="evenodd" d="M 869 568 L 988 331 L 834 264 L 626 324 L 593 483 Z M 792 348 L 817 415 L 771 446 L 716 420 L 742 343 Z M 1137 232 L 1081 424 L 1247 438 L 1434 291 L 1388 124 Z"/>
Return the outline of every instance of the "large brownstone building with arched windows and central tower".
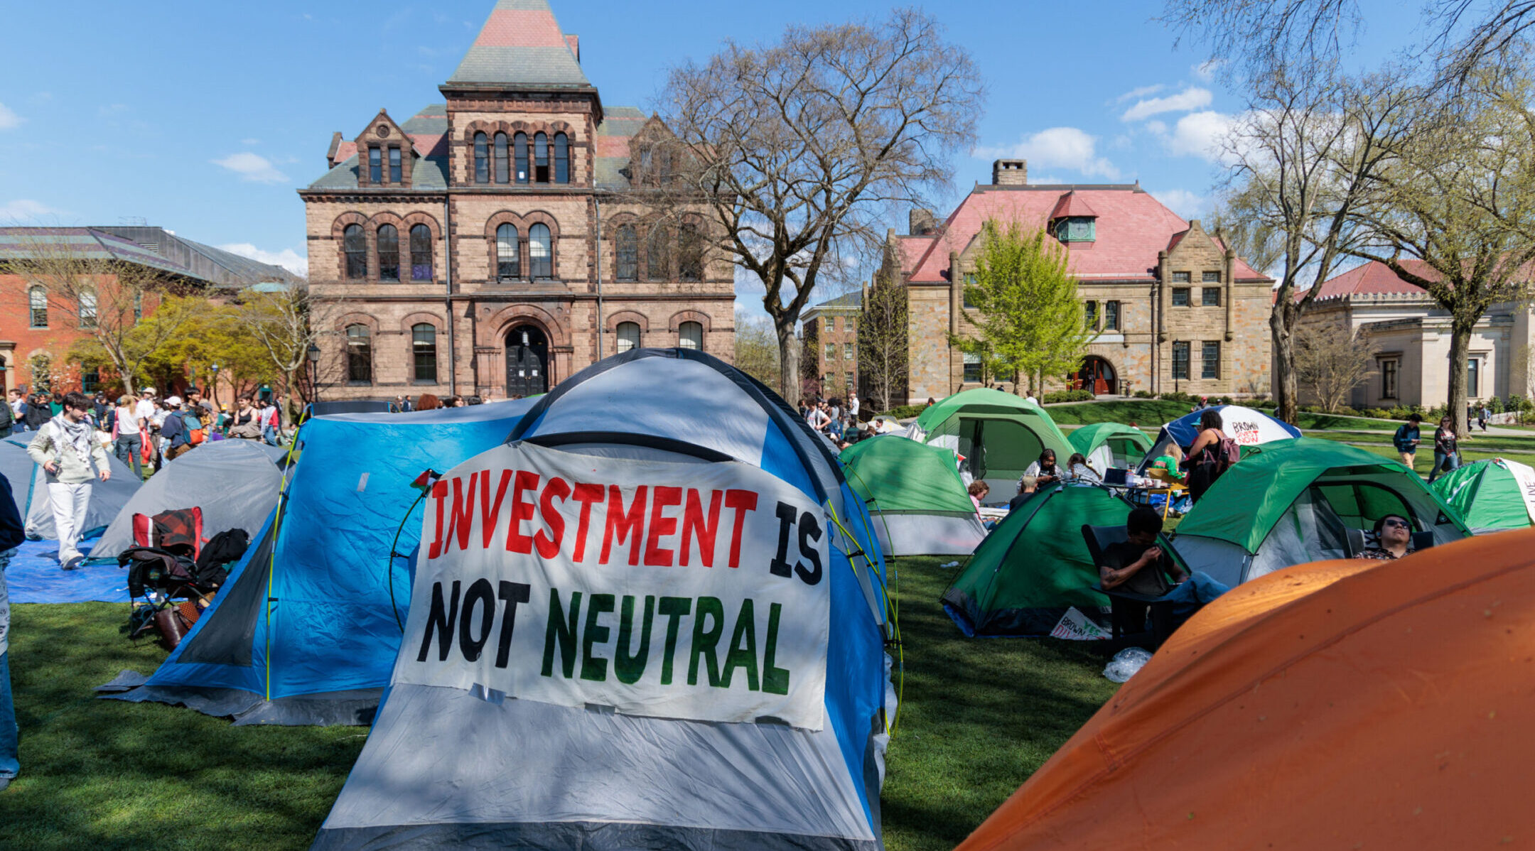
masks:
<path fill-rule="evenodd" d="M 634 347 L 732 359 L 703 209 L 646 202 L 668 130 L 602 103 L 545 0 L 499 0 L 439 90 L 336 133 L 299 190 L 327 396 L 527 396 Z"/>

